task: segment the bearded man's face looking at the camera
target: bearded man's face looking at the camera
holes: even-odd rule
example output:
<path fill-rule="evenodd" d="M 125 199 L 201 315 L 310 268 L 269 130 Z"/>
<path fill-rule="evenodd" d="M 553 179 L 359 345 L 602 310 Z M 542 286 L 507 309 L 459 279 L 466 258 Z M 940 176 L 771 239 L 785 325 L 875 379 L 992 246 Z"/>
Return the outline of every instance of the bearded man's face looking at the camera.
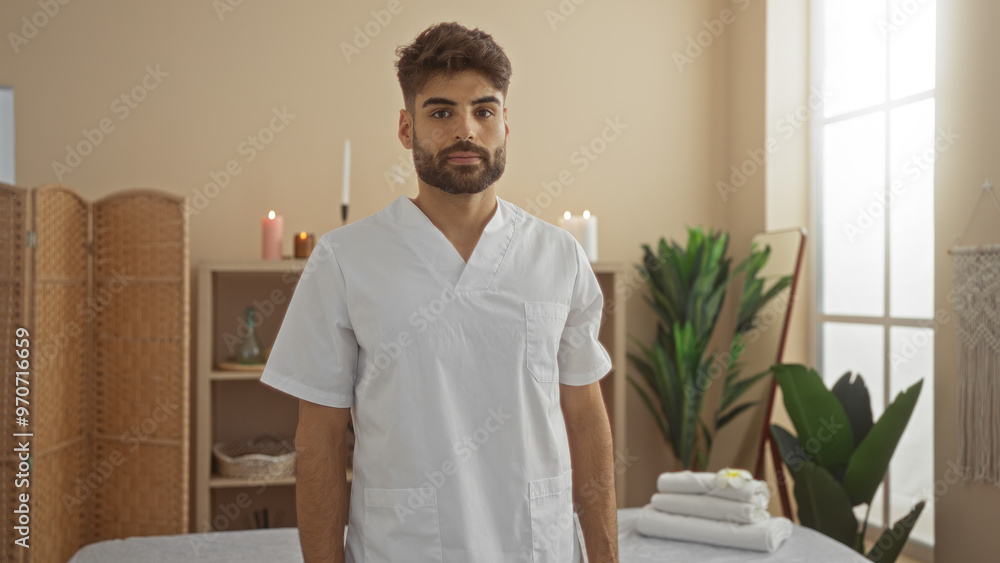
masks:
<path fill-rule="evenodd" d="M 503 94 L 475 71 L 436 76 L 417 95 L 412 141 L 417 176 L 450 194 L 475 194 L 493 185 L 507 163 L 507 109 Z"/>

